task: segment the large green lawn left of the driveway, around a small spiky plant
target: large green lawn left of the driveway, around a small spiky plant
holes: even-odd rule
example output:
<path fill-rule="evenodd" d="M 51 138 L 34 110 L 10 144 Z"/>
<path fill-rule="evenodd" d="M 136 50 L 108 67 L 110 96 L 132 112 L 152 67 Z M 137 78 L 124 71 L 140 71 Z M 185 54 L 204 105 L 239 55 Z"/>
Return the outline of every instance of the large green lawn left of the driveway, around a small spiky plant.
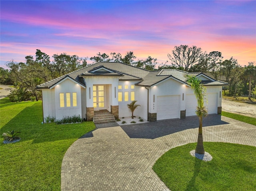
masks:
<path fill-rule="evenodd" d="M 70 145 L 95 128 L 81 124 L 41 124 L 42 102 L 0 100 L 0 134 L 20 131 L 21 140 L 3 144 L 0 138 L 1 190 L 60 190 L 62 159 Z"/>

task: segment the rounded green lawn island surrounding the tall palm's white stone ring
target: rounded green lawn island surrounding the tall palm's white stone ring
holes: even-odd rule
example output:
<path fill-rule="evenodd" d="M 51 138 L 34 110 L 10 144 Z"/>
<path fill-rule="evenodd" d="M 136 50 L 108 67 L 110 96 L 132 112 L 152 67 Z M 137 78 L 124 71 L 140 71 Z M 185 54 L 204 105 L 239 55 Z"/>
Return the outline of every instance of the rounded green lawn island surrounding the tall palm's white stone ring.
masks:
<path fill-rule="evenodd" d="M 172 191 L 252 191 L 256 188 L 256 147 L 205 142 L 213 157 L 190 156 L 196 143 L 176 147 L 162 155 L 153 170 Z"/>

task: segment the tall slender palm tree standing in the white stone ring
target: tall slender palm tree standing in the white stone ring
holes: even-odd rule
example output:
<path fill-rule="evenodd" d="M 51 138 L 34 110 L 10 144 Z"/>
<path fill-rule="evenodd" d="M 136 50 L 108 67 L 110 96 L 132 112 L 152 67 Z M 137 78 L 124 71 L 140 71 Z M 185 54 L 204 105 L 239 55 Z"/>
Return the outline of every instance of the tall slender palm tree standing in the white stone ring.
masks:
<path fill-rule="evenodd" d="M 202 85 L 201 80 L 198 79 L 196 76 L 187 75 L 186 78 L 187 78 L 188 85 L 190 85 L 197 99 L 196 115 L 199 118 L 199 129 L 198 129 L 196 153 L 204 154 L 202 121 L 203 121 L 203 117 L 207 116 L 207 113 L 208 113 L 206 106 L 204 106 L 204 99 L 205 99 L 204 96 L 206 95 L 206 87 Z"/>

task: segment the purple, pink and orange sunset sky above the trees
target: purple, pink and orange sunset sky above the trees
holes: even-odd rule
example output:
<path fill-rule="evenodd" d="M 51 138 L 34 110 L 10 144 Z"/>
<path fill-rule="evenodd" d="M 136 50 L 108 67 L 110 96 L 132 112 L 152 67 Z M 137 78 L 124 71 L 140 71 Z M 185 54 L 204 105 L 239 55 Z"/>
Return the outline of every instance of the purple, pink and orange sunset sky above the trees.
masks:
<path fill-rule="evenodd" d="M 0 66 L 50 55 L 133 51 L 168 60 L 174 46 L 256 61 L 256 1 L 0 1 Z M 90 63 L 90 61 L 88 61 Z"/>

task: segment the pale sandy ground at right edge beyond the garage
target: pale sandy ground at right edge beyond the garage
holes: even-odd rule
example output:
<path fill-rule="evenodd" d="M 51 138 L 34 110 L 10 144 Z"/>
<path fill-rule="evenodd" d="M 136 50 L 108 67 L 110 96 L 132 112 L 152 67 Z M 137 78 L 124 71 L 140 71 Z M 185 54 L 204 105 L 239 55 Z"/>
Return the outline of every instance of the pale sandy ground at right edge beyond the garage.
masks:
<path fill-rule="evenodd" d="M 256 104 L 240 103 L 222 98 L 222 111 L 256 118 Z"/>

